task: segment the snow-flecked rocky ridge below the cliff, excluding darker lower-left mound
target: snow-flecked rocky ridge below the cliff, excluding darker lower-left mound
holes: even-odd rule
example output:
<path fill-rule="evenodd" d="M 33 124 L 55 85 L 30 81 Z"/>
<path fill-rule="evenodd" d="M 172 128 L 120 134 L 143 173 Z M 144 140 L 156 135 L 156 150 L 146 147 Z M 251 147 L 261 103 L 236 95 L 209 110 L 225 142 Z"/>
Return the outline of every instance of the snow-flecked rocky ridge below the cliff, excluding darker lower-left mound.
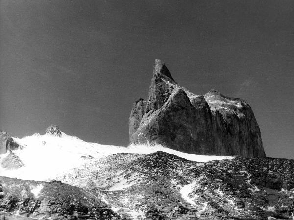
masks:
<path fill-rule="evenodd" d="M 99 169 L 97 169 L 99 167 Z M 126 219 L 292 219 L 294 161 L 114 154 L 59 176 Z"/>

